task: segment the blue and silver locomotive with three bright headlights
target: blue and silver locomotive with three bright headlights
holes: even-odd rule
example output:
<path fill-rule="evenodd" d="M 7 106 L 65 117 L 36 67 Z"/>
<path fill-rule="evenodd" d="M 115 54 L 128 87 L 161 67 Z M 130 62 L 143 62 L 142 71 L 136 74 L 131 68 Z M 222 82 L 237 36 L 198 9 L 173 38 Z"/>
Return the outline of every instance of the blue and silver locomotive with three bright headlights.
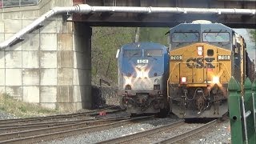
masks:
<path fill-rule="evenodd" d="M 117 57 L 120 106 L 130 114 L 166 114 L 167 47 L 135 42 L 122 46 Z"/>

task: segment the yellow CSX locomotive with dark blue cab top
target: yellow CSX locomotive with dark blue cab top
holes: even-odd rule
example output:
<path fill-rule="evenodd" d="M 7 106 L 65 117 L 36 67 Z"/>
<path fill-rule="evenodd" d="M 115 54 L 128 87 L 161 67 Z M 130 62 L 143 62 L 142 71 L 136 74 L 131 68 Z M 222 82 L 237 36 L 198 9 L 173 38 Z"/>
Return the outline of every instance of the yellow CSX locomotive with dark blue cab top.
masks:
<path fill-rule="evenodd" d="M 246 42 L 230 27 L 197 21 L 170 29 L 170 111 L 179 118 L 221 118 L 231 76 L 254 79 Z"/>

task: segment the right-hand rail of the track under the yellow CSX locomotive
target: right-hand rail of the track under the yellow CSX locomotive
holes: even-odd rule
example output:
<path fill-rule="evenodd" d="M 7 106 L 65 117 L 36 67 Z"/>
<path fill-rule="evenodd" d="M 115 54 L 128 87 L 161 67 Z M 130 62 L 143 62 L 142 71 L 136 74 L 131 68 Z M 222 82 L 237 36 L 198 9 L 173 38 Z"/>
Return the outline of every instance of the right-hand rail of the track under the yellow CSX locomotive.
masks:
<path fill-rule="evenodd" d="M 198 133 L 202 132 L 203 130 L 206 130 L 207 128 L 209 128 L 211 126 L 216 125 L 216 123 L 217 123 L 217 120 L 215 119 L 214 121 L 208 122 L 208 123 L 204 124 L 203 126 L 199 126 L 195 129 L 187 131 L 185 133 L 175 135 L 174 137 L 171 137 L 171 138 L 166 138 L 166 139 L 164 139 L 162 141 L 159 141 L 159 142 L 155 142 L 154 144 L 157 144 L 157 143 L 161 143 L 161 144 L 163 144 L 163 143 L 175 143 L 175 142 L 182 141 L 185 138 L 190 138 L 191 136 L 194 136 L 195 134 L 198 134 Z"/>

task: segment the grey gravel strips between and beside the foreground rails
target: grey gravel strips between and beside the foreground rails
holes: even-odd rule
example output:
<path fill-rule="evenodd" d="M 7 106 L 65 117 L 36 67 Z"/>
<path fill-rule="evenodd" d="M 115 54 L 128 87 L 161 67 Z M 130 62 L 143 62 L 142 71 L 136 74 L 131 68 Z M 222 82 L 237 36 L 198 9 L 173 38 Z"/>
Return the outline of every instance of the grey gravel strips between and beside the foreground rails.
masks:
<path fill-rule="evenodd" d="M 46 142 L 48 144 L 51 143 L 96 143 L 101 142 L 106 139 L 117 138 L 126 134 L 134 134 L 140 131 L 149 130 L 156 126 L 162 126 L 172 122 L 178 122 L 180 119 L 177 118 L 158 118 L 154 120 L 149 120 L 147 122 L 134 123 L 127 126 L 116 127 L 110 130 L 102 130 L 90 134 L 80 134 L 77 136 L 73 136 L 70 138 L 62 138 L 56 139 L 51 142 Z M 209 130 L 203 131 L 201 134 L 198 134 L 192 138 L 188 138 L 185 141 L 178 143 L 210 143 L 210 144 L 222 144 L 222 143 L 230 143 L 230 122 L 226 120 L 225 122 L 218 123 L 217 126 L 211 127 Z M 191 130 L 194 127 L 202 126 L 202 123 L 199 124 L 186 124 L 178 129 L 174 129 L 174 131 L 162 132 L 159 134 L 155 134 L 150 138 L 145 138 L 145 141 L 134 141 L 129 143 L 152 143 L 158 142 L 168 136 L 174 136 L 176 134 L 186 132 L 187 130 Z"/>

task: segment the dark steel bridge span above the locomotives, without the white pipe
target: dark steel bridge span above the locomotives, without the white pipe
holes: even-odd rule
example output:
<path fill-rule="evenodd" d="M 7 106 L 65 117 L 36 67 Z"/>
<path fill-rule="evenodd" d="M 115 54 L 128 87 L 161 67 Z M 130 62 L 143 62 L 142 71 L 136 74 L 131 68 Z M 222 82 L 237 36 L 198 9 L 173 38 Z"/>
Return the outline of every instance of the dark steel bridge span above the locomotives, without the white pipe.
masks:
<path fill-rule="evenodd" d="M 90 6 L 142 6 L 142 7 L 181 7 L 216 9 L 255 9 L 256 1 L 247 0 L 73 0 L 74 4 L 86 3 Z M 205 19 L 223 23 L 233 28 L 255 28 L 256 17 L 243 14 L 128 14 L 128 13 L 90 13 L 74 14 L 72 21 L 85 22 L 89 26 L 152 26 L 172 27 L 182 22 Z"/>

